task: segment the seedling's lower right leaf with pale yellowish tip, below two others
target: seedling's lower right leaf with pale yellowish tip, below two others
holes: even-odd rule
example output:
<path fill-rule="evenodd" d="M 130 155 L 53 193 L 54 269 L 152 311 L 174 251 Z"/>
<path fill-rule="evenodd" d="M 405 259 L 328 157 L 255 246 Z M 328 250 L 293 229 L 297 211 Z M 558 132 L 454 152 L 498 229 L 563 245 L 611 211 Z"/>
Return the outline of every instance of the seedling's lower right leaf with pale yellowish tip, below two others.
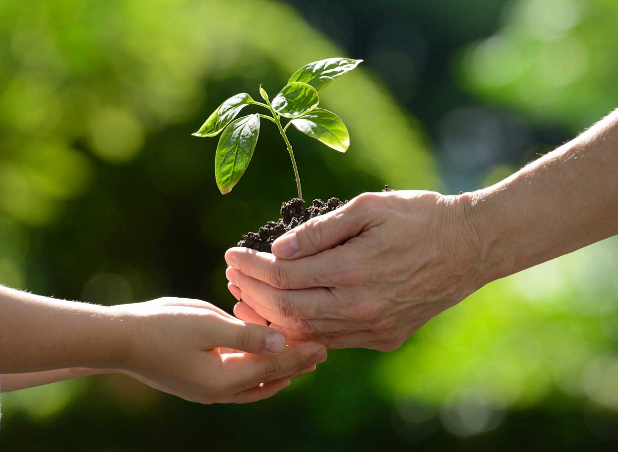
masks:
<path fill-rule="evenodd" d="M 345 152 L 350 147 L 347 127 L 332 111 L 316 108 L 292 119 L 292 126 L 336 151 Z"/>

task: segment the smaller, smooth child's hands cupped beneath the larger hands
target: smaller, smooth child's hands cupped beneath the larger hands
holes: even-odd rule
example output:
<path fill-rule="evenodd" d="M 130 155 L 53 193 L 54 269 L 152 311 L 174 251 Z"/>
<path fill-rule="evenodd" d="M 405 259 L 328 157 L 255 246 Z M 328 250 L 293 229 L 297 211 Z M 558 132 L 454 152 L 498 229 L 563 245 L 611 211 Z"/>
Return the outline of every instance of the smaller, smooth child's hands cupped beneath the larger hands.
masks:
<path fill-rule="evenodd" d="M 286 347 L 273 328 L 242 322 L 200 300 L 161 298 L 110 309 L 135 325 L 120 371 L 189 401 L 265 399 L 326 360 L 323 344 Z"/>

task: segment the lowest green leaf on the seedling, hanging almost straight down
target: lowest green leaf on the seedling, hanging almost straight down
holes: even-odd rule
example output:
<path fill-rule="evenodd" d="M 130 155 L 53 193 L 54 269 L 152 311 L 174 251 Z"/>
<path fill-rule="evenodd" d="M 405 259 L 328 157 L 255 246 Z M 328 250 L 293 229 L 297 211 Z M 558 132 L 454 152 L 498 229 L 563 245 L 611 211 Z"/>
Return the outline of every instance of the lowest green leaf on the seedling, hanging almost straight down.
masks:
<path fill-rule="evenodd" d="M 245 174 L 260 135 L 260 115 L 239 117 L 221 134 L 214 157 L 214 177 L 221 194 L 232 191 Z"/>

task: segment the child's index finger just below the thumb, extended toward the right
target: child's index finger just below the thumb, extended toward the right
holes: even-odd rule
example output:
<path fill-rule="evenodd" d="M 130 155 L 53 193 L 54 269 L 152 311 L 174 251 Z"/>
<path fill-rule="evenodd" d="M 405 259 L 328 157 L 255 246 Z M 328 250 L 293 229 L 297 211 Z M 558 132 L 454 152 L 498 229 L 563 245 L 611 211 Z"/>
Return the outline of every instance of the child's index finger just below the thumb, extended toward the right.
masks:
<path fill-rule="evenodd" d="M 326 347 L 316 342 L 307 342 L 287 347 L 279 356 L 266 357 L 252 354 L 227 356 L 222 364 L 223 378 L 237 392 L 252 388 L 258 383 L 289 377 L 314 364 L 326 360 Z"/>

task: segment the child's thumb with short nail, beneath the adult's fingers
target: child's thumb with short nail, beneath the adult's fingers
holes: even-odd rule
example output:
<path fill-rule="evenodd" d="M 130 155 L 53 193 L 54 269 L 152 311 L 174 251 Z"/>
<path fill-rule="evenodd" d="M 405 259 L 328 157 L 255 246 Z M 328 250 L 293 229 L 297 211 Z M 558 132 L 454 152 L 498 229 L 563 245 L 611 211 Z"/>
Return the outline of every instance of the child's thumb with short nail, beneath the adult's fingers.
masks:
<path fill-rule="evenodd" d="M 266 356 L 281 354 L 286 349 L 286 338 L 274 328 L 223 317 L 215 324 L 212 342 L 218 347 Z"/>

